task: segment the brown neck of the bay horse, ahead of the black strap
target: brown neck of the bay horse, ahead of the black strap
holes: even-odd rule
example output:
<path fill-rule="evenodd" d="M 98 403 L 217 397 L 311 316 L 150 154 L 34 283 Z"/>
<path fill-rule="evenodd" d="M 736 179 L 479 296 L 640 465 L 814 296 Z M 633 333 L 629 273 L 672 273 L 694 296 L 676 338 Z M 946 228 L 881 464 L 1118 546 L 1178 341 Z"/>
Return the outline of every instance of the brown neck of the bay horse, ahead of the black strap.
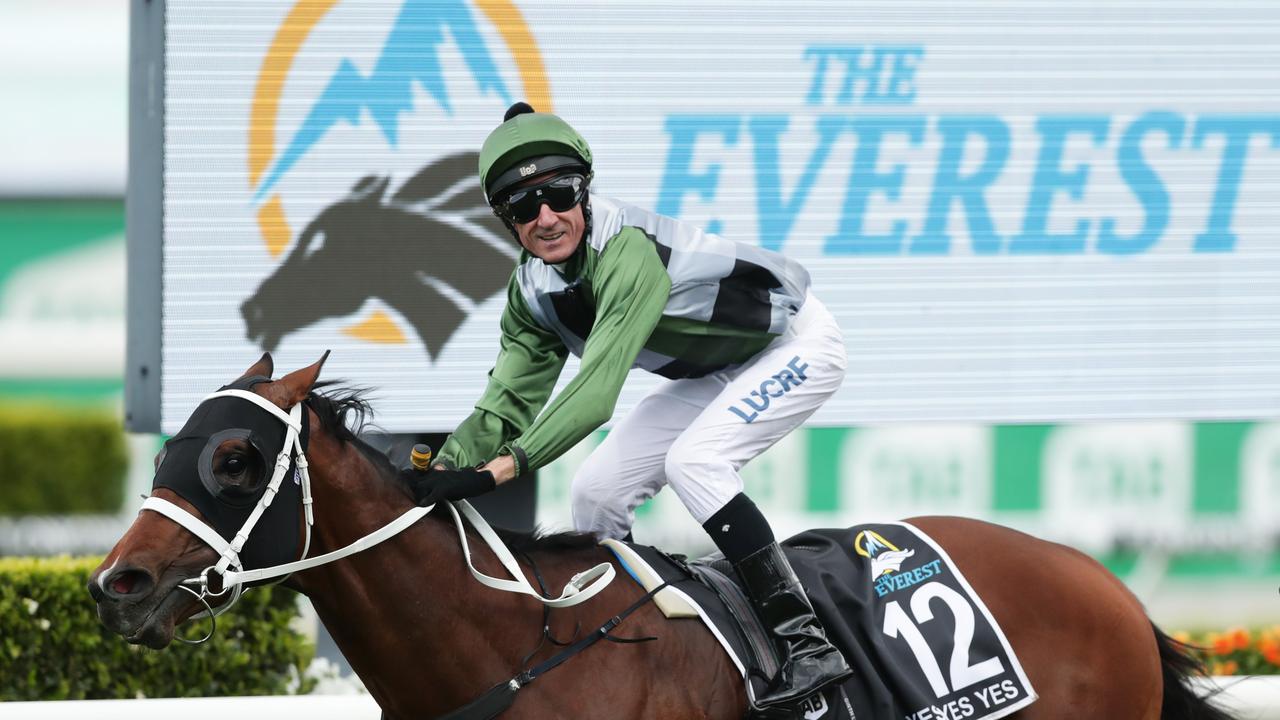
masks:
<path fill-rule="evenodd" d="M 316 512 L 312 556 L 344 547 L 412 507 L 355 446 L 314 434 L 308 455 Z M 434 715 L 476 697 L 520 660 L 508 628 L 541 626 L 536 607 L 471 578 L 456 530 L 440 516 L 435 512 L 379 546 L 292 582 L 311 598 L 352 669 L 393 716 Z M 471 543 L 475 548 L 474 537 Z M 481 571 L 502 573 L 488 551 L 475 555 Z M 425 705 L 392 710 L 404 698 Z"/>

